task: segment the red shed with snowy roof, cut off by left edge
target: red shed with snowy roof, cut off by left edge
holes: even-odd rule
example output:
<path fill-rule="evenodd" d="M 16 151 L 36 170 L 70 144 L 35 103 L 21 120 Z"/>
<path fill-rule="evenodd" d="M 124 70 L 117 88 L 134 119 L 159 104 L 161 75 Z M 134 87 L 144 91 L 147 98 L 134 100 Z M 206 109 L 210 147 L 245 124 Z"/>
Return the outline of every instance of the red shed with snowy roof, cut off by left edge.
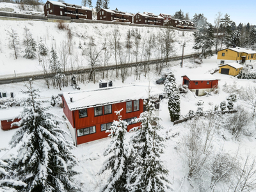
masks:
<path fill-rule="evenodd" d="M 1 129 L 4 131 L 10 130 L 10 129 L 16 129 L 17 126 L 11 127 L 11 124 L 13 122 L 19 122 L 19 118 L 15 118 L 16 116 L 19 116 L 20 112 L 22 111 L 22 108 L 13 108 L 13 109 L 1 109 L 0 110 L 0 124 Z"/>

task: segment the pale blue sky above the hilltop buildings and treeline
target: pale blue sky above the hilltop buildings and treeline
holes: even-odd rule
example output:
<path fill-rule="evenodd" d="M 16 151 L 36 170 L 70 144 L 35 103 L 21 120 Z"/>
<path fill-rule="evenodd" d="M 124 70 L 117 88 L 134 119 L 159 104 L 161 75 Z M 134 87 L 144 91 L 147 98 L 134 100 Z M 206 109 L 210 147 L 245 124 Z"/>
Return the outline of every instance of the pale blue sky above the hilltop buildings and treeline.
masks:
<path fill-rule="evenodd" d="M 57 1 L 57 0 L 56 0 Z M 81 0 L 64 0 L 66 3 L 72 4 L 81 4 Z M 92 0 L 92 5 L 95 7 L 97 0 Z M 44 0 L 46 2 L 46 0 Z M 243 24 L 250 24 L 256 25 L 256 1 L 255 0 L 248 0 L 246 3 L 243 1 L 230 1 L 230 0 L 216 0 L 216 1 L 207 1 L 207 0 L 177 0 L 177 1 L 170 1 L 170 0 L 161 0 L 161 1 L 138 1 L 138 0 L 110 0 L 109 7 L 111 10 L 118 10 L 122 12 L 131 12 L 131 13 L 138 13 L 138 12 L 152 12 L 157 15 L 159 13 L 166 13 L 173 15 L 178 10 L 182 10 L 182 12 L 189 13 L 189 17 L 193 18 L 195 13 L 204 13 L 205 17 L 207 18 L 208 22 L 214 24 L 214 17 L 218 12 L 221 12 L 223 16 L 225 13 L 230 15 L 230 19 L 236 22 L 236 25 L 239 22 Z"/>

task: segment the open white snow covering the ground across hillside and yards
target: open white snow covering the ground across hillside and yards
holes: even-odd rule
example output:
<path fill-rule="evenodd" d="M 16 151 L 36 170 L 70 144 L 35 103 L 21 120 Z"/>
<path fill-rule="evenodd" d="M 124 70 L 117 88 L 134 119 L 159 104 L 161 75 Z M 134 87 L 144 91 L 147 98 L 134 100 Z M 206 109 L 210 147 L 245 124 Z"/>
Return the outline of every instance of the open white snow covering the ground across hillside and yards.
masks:
<path fill-rule="evenodd" d="M 1 4 L 1 3 L 0 3 Z M 2 21 L 0 20 L 0 76 L 4 76 L 7 74 L 13 74 L 13 70 L 17 73 L 24 72 L 35 72 L 41 70 L 40 65 L 38 65 L 38 60 L 26 60 L 20 56 L 17 60 L 13 59 L 12 50 L 8 48 L 8 38 L 6 36 L 6 30 L 10 30 L 11 28 L 15 29 L 20 36 L 20 42 L 22 41 L 23 36 L 23 28 L 27 26 L 30 29 L 33 37 L 39 42 L 40 37 L 43 38 L 45 44 L 48 48 L 51 46 L 60 46 L 60 42 L 67 39 L 67 32 L 60 31 L 56 27 L 56 23 L 49 22 L 38 22 L 38 21 Z M 70 28 L 74 32 L 74 53 L 70 56 L 70 61 L 75 61 L 80 64 L 83 63 L 85 66 L 88 65 L 86 58 L 81 56 L 81 49 L 78 49 L 79 42 L 81 41 L 82 45 L 85 46 L 88 44 L 88 39 L 90 36 L 93 36 L 95 39 L 95 44 L 101 44 L 104 38 L 108 38 L 109 33 L 113 30 L 113 26 L 108 26 L 106 24 L 69 24 Z M 125 34 L 128 29 L 135 29 L 129 26 L 119 26 L 120 32 L 122 33 L 122 42 L 125 41 Z M 155 35 L 160 33 L 161 29 L 158 28 L 138 28 L 141 31 L 141 34 L 147 37 L 148 31 L 154 33 Z M 186 41 L 186 49 L 185 54 L 194 52 L 191 47 L 193 46 L 193 34 L 184 32 L 184 36 L 182 32 L 175 31 L 175 52 L 176 54 L 181 53 L 182 47 L 179 43 Z M 85 43 L 85 45 L 84 45 Z M 24 47 L 23 47 L 24 48 Z M 59 49 L 59 48 L 57 48 Z M 75 58 L 77 60 L 75 60 Z M 172 70 L 177 79 L 177 84 L 182 83 L 181 76 L 186 74 L 209 74 L 218 68 L 216 64 L 216 55 L 211 58 L 204 60 L 202 65 L 192 65 L 188 60 L 184 61 L 183 68 L 180 68 L 179 62 L 175 61 L 170 63 L 170 67 L 164 68 L 162 74 L 168 74 L 170 70 Z M 113 58 L 111 60 L 113 62 Z M 196 67 L 195 67 L 196 66 Z M 130 83 L 149 83 L 156 84 L 155 81 L 157 78 L 161 77 L 156 72 L 154 72 L 154 67 L 147 74 L 146 77 L 140 77 L 140 80 L 136 80 L 134 74 L 132 76 L 128 76 L 125 79 L 124 84 Z M 213 109 L 217 104 L 219 105 L 221 101 L 226 100 L 228 97 L 228 93 L 223 91 L 223 86 L 227 85 L 230 87 L 236 86 L 238 88 L 245 88 L 248 84 L 255 85 L 255 81 L 246 80 L 246 79 L 236 79 L 236 77 L 227 76 L 223 74 L 215 73 L 214 77 L 220 79 L 219 81 L 219 92 L 212 95 L 205 95 L 202 97 L 197 97 L 194 93 L 188 92 L 180 97 L 180 113 L 181 115 L 188 114 L 189 110 L 196 111 L 198 100 L 202 100 L 204 104 L 202 107 L 204 110 Z M 109 72 L 109 79 L 113 81 L 113 86 L 122 85 L 122 81 L 120 79 L 116 79 L 115 72 Z M 44 100 L 51 100 L 52 95 L 57 95 L 61 92 L 72 91 L 73 88 L 68 86 L 62 88 L 62 91 L 58 89 L 53 89 L 52 86 L 50 89 L 47 89 L 45 86 L 44 80 L 35 81 L 35 88 L 38 88 L 41 93 L 40 96 Z M 99 84 L 84 82 L 79 83 L 81 90 L 90 90 L 99 88 Z M 159 89 L 163 90 L 163 85 L 157 85 Z M 26 90 L 24 83 L 13 83 L 13 84 L 0 84 L 0 92 L 14 92 L 15 98 L 26 97 L 20 90 Z M 8 95 L 10 98 L 10 95 Z M 0 99 L 3 100 L 3 99 Z M 237 105 L 243 105 L 246 110 L 252 112 L 252 109 L 246 105 L 242 100 L 237 100 L 235 102 L 235 108 Z M 49 102 L 46 105 L 50 105 Z M 164 161 L 164 165 L 169 171 L 168 179 L 172 184 L 173 191 L 200 191 L 199 184 L 197 180 L 187 179 L 188 176 L 188 161 L 184 154 L 184 150 L 182 143 L 184 143 L 184 137 L 189 132 L 188 124 L 179 124 L 174 125 L 170 122 L 170 116 L 168 113 L 168 101 L 163 99 L 160 105 L 160 113 L 161 117 L 161 125 L 163 125 L 164 129 L 159 132 L 159 134 L 163 135 L 167 140 L 164 142 L 166 147 L 164 148 L 164 154 L 161 156 L 161 159 Z M 0 109 L 0 116 L 6 113 L 8 109 Z M 61 108 L 53 107 L 51 108 L 51 112 L 62 118 L 63 111 Z M 230 131 L 225 129 L 223 124 L 227 122 L 226 116 L 220 117 L 218 124 L 220 127 L 216 129 L 214 134 L 214 139 L 211 145 L 211 149 L 214 152 L 219 152 L 223 150 L 227 152 L 231 156 L 236 157 L 237 159 L 243 159 L 246 154 L 251 153 L 252 156 L 256 156 L 256 140 L 255 140 L 255 120 L 250 120 L 250 124 L 248 127 L 250 128 L 250 136 L 242 135 L 239 140 L 235 140 L 232 137 Z M 63 125 L 63 129 L 66 129 Z M 11 131 L 2 131 L 0 129 L 0 158 L 4 159 L 10 154 L 15 154 L 15 149 L 10 150 L 8 142 L 12 138 L 15 130 Z M 133 133 L 127 133 L 127 138 L 129 138 Z M 71 139 L 71 138 L 69 138 Z M 106 179 L 108 178 L 108 172 L 99 175 L 98 172 L 102 167 L 102 164 L 106 157 L 103 156 L 104 149 L 108 146 L 109 138 L 105 138 L 103 140 L 93 141 L 90 143 L 84 143 L 83 145 L 79 145 L 74 151 L 74 155 L 77 157 L 77 161 L 79 165 L 77 166 L 77 170 L 81 172 L 80 175 L 77 175 L 76 181 L 81 185 L 81 188 L 85 192 L 90 191 L 100 191 L 100 188 L 106 184 Z M 239 154 L 236 156 L 236 154 Z M 208 175 L 209 176 L 209 175 Z M 211 176 L 210 176 L 211 177 Z M 202 179 L 202 186 L 207 186 L 209 184 L 209 177 L 205 177 Z M 211 178 L 210 178 L 211 180 Z M 196 185 L 197 184 L 197 185 Z M 170 190 L 171 191 L 171 190 Z M 211 190 L 208 190 L 211 191 Z M 227 185 L 225 182 L 221 181 L 218 184 L 215 191 L 227 191 Z"/>

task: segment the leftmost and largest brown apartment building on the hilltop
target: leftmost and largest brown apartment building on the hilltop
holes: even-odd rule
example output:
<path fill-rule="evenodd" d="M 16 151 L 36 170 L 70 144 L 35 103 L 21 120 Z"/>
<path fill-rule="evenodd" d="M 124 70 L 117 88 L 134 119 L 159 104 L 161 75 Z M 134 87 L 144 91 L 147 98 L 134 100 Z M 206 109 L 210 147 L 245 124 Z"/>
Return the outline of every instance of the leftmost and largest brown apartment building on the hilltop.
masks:
<path fill-rule="evenodd" d="M 44 5 L 44 15 L 67 16 L 71 19 L 92 19 L 92 10 L 76 4 L 47 1 Z"/>

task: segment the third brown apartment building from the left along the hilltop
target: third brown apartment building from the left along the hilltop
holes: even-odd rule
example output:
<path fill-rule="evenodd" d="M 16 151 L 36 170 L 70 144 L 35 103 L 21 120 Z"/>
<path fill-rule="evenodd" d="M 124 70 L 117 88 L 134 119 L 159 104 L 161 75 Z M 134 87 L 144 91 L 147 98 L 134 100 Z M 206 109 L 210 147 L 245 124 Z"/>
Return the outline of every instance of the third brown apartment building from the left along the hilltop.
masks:
<path fill-rule="evenodd" d="M 137 13 L 134 16 L 134 24 L 149 24 L 156 26 L 164 25 L 164 18 L 159 15 L 154 15 L 153 13 Z"/>

